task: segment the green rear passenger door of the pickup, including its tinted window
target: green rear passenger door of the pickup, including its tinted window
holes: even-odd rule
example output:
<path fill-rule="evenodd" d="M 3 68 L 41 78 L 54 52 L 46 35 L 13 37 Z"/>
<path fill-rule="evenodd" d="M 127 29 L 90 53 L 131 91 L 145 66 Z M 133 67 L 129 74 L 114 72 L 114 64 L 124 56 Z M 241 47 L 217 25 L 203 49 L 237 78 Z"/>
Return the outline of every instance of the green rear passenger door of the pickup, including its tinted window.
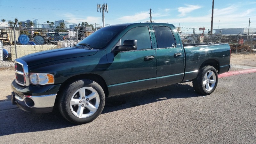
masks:
<path fill-rule="evenodd" d="M 177 84 L 184 75 L 184 52 L 168 26 L 153 26 L 156 36 L 156 87 Z M 174 29 L 174 27 L 173 27 Z M 178 43 L 176 43 L 178 40 Z"/>

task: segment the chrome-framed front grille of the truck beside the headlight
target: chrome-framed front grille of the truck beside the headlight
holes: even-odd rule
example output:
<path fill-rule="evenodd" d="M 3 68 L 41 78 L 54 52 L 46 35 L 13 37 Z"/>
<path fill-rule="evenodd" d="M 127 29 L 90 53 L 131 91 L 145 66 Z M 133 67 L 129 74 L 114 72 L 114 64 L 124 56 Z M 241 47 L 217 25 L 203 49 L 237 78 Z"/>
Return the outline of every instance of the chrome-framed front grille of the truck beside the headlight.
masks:
<path fill-rule="evenodd" d="M 22 86 L 29 85 L 28 65 L 25 61 L 16 59 L 15 61 L 15 76 L 16 83 Z"/>

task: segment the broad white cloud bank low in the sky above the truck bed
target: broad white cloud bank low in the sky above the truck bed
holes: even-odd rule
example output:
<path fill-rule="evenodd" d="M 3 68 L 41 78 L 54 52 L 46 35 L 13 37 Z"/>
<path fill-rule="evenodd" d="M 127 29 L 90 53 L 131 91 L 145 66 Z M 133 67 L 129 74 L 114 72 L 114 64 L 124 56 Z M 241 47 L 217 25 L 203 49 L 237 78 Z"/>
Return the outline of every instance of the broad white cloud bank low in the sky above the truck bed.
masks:
<path fill-rule="evenodd" d="M 249 18 L 251 18 L 251 26 L 253 27 L 253 23 L 256 23 L 255 18 L 255 11 L 256 8 L 246 9 L 242 11 L 242 7 L 244 5 L 229 5 L 222 9 L 214 9 L 214 16 L 213 16 L 213 29 L 219 27 L 220 21 L 220 28 L 248 28 Z M 187 11 L 188 12 L 188 11 Z M 186 13 L 185 13 L 186 14 Z M 167 20 L 169 23 L 174 24 L 175 26 L 183 27 L 183 31 L 187 30 L 184 28 L 198 28 L 205 27 L 207 30 L 211 28 L 211 18 L 212 18 L 212 11 L 208 11 L 203 13 L 200 16 L 185 16 L 182 18 L 173 17 L 171 19 L 154 19 L 156 22 L 163 22 L 166 23 Z M 255 20 L 253 21 L 253 18 Z"/>

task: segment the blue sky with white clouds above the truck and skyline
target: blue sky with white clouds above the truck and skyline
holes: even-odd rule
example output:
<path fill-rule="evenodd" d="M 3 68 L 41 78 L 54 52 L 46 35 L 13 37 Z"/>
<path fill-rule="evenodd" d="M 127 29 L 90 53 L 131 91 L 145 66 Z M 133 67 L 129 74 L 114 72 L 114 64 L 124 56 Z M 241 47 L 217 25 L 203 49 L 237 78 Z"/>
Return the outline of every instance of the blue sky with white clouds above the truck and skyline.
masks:
<path fill-rule="evenodd" d="M 69 24 L 88 22 L 102 26 L 102 12 L 97 4 L 108 4 L 105 26 L 150 21 L 172 23 L 183 32 L 211 29 L 212 0 L 0 0 L 0 20 L 69 21 Z M 255 0 L 215 0 L 213 29 L 256 28 Z"/>

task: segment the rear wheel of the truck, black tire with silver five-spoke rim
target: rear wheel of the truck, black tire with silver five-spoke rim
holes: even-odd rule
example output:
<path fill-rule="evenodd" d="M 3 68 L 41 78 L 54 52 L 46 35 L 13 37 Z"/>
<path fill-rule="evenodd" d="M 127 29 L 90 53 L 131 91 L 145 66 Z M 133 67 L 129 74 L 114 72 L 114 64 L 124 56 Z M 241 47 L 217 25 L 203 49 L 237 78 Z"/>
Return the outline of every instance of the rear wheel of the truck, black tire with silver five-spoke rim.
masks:
<path fill-rule="evenodd" d="M 196 92 L 209 95 L 218 84 L 218 74 L 212 66 L 205 66 L 199 70 L 196 79 L 193 80 L 193 88 Z"/>

